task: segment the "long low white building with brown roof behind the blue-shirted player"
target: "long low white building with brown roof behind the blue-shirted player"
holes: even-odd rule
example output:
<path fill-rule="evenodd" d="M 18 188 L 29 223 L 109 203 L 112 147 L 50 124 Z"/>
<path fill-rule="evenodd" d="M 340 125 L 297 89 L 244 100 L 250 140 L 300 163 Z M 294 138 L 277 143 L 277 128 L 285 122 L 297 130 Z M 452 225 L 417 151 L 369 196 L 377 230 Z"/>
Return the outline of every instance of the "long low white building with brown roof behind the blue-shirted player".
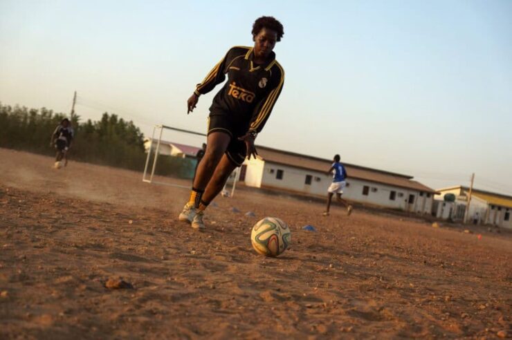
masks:
<path fill-rule="evenodd" d="M 325 197 L 332 176 L 332 160 L 257 147 L 259 157 L 246 160 L 240 180 L 248 187 L 278 189 Z M 435 190 L 412 180 L 412 176 L 345 165 L 347 187 L 343 197 L 354 202 L 430 214 Z"/>

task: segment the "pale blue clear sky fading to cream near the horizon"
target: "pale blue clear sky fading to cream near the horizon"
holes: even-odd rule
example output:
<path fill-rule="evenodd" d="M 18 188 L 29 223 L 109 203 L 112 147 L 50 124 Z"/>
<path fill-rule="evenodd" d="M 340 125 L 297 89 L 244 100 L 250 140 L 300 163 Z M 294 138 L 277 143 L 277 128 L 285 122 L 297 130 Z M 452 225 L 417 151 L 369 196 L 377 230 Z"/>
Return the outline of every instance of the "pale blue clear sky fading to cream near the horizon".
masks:
<path fill-rule="evenodd" d="M 0 101 L 204 131 L 218 88 L 185 101 L 261 15 L 286 80 L 259 144 L 512 194 L 512 1 L 1 0 Z"/>

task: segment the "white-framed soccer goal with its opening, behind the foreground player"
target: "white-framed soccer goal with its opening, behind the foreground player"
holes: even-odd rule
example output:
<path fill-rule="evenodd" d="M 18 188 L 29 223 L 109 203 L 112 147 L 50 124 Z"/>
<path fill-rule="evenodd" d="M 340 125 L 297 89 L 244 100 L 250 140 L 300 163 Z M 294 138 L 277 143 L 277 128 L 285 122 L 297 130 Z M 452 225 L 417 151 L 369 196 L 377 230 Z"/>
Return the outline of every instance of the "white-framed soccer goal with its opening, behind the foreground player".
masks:
<path fill-rule="evenodd" d="M 147 153 L 143 182 L 190 189 L 194 179 L 197 153 L 206 142 L 206 135 L 195 131 L 156 125 L 151 138 L 145 138 Z M 222 196 L 232 197 L 240 177 L 238 167 L 231 173 Z"/>

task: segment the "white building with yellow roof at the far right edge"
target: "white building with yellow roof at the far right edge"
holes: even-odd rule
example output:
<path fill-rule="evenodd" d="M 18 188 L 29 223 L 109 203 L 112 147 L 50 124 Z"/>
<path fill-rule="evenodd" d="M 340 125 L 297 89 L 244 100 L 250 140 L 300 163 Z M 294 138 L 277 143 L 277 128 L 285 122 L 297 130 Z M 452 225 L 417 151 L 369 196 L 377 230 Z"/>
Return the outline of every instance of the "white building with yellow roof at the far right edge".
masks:
<path fill-rule="evenodd" d="M 468 204 L 469 188 L 461 185 L 437 190 L 436 200 L 444 199 L 448 193 L 455 195 L 455 208 L 449 218 L 463 220 L 464 211 Z M 473 189 L 468 209 L 468 222 L 476 220 L 478 224 L 497 225 L 498 227 L 512 229 L 512 196 L 501 193 L 492 193 Z"/>

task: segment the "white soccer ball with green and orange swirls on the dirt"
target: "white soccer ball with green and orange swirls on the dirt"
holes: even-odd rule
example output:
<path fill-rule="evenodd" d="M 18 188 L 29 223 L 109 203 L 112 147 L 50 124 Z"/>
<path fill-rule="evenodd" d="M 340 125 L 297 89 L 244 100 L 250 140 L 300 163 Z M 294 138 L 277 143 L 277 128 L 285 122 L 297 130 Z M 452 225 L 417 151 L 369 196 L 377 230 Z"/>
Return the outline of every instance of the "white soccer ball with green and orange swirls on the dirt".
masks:
<path fill-rule="evenodd" d="M 266 217 L 253 227 L 250 242 L 257 253 L 265 256 L 282 254 L 291 243 L 290 228 L 279 218 Z"/>

